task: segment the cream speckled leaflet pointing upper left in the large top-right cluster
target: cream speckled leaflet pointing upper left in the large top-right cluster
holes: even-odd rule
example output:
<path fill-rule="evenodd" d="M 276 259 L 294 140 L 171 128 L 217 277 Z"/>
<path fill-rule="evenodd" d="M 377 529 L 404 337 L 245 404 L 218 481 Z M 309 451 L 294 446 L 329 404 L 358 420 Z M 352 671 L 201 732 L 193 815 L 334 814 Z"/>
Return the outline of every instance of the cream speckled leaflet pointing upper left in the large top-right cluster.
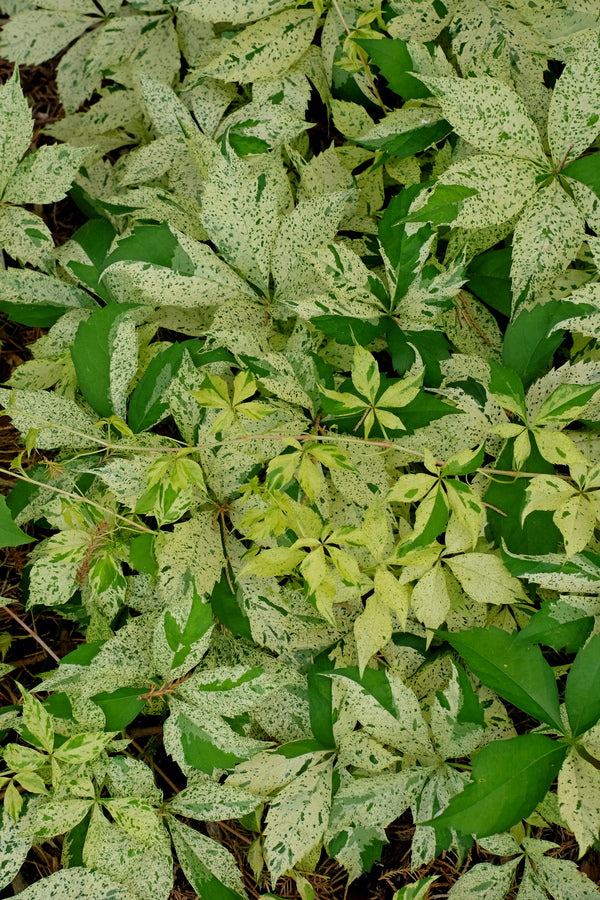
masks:
<path fill-rule="evenodd" d="M 539 132 L 523 101 L 499 79 L 416 77 L 439 99 L 456 133 L 478 150 L 546 163 Z"/>

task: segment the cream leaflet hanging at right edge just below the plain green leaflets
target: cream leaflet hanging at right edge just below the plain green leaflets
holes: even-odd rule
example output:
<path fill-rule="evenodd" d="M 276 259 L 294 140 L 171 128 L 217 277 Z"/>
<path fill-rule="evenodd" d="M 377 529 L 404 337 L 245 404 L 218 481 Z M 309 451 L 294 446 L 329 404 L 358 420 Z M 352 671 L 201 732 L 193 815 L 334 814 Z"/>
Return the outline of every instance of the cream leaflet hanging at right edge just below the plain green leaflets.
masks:
<path fill-rule="evenodd" d="M 597 840 L 600 830 L 600 772 L 575 748 L 569 751 L 558 774 L 558 802 L 582 856 Z"/>

